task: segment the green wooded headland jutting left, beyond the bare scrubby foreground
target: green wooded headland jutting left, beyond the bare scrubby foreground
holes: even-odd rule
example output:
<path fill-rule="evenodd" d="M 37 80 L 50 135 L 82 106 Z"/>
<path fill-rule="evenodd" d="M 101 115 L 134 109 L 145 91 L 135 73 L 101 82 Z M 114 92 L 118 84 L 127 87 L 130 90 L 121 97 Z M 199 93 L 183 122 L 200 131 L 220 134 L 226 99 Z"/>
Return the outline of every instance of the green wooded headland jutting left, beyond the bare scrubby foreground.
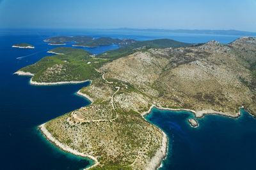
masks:
<path fill-rule="evenodd" d="M 44 57 L 35 64 L 23 67 L 20 71 L 35 74 L 33 81 L 83 81 L 97 76 L 94 68 L 102 66 L 106 60 L 93 59 L 92 53 L 75 48 L 54 48 L 51 52 L 64 53 Z"/>

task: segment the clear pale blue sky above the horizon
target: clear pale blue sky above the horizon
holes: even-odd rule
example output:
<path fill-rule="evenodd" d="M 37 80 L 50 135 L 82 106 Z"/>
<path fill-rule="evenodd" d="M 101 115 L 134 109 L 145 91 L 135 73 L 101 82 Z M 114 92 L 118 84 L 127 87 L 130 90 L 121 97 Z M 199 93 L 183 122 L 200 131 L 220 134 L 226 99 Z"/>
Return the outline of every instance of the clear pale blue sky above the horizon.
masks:
<path fill-rule="evenodd" d="M 0 27 L 256 32 L 256 0 L 0 0 Z"/>

